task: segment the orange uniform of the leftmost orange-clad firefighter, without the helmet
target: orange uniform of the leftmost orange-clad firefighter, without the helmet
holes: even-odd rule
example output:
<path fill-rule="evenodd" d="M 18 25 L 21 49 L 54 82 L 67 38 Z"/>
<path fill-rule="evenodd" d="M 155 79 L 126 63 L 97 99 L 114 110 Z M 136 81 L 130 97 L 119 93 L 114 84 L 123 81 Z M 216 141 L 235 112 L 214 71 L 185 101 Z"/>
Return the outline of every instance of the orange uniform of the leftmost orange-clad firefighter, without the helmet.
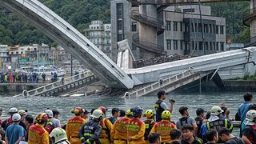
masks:
<path fill-rule="evenodd" d="M 35 124 L 34 126 L 30 126 L 29 129 L 29 136 L 28 136 L 28 143 L 34 144 L 49 144 L 49 134 L 45 130 L 45 128 L 41 124 Z"/>

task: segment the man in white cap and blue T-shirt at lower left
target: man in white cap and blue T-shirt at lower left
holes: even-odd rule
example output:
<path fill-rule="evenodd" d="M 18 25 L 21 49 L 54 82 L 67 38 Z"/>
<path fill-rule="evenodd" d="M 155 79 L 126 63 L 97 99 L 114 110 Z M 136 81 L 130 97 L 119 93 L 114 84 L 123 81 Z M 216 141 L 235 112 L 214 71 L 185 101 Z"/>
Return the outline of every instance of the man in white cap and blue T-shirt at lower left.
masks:
<path fill-rule="evenodd" d="M 19 143 L 25 137 L 26 134 L 24 128 L 18 125 L 18 123 L 21 120 L 21 116 L 19 114 L 14 114 L 12 116 L 12 120 L 14 123 L 8 126 L 6 129 L 5 140 L 7 144 Z"/>

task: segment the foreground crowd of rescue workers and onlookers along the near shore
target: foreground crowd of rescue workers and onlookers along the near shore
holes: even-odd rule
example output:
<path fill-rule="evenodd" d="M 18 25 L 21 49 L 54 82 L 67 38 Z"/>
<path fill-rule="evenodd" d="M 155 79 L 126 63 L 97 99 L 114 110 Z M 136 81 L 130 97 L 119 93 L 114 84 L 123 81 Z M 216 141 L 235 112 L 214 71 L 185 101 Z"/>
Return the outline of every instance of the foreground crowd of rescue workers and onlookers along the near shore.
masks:
<path fill-rule="evenodd" d="M 10 108 L 10 118 L 0 120 L 0 144 L 256 143 L 256 106 L 252 104 L 253 95 L 250 93 L 244 94 L 245 102 L 238 107 L 236 114 L 236 120 L 241 121 L 240 136 L 232 134 L 230 110 L 225 103 L 212 106 L 207 112 L 198 108 L 196 118 L 190 116 L 188 107 L 180 106 L 178 111 L 181 117 L 173 122 L 171 118 L 175 101 L 170 99 L 170 106 L 167 106 L 167 93 L 159 90 L 157 95 L 154 110 L 143 112 L 141 106 L 126 111 L 112 108 L 110 118 L 106 118 L 108 109 L 105 106 L 90 111 L 75 107 L 71 110 L 74 118 L 64 125 L 58 120 L 58 110 L 47 108 L 34 118 L 26 110 Z M 146 120 L 142 121 L 142 117 Z"/>

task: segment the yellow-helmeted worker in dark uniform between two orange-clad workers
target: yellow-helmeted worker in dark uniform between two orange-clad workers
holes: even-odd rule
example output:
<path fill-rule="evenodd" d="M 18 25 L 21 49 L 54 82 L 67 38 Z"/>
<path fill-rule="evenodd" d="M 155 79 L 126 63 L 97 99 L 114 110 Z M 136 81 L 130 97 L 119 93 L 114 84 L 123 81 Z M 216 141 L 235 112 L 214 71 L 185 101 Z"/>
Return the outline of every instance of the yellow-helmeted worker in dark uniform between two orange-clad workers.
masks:
<path fill-rule="evenodd" d="M 153 110 L 146 110 L 146 113 L 143 114 L 143 117 L 146 117 L 146 120 L 143 121 L 145 123 L 145 134 L 144 134 L 144 140 L 146 144 L 149 143 L 148 136 L 150 134 L 150 130 L 154 126 L 154 111 Z"/>

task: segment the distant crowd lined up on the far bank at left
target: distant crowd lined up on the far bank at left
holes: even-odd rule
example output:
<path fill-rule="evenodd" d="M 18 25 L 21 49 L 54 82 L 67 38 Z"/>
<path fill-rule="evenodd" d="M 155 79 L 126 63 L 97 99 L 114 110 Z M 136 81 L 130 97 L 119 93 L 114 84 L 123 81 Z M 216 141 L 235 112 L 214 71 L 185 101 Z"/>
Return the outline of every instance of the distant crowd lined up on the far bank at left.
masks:
<path fill-rule="evenodd" d="M 50 82 L 57 82 L 57 73 L 51 73 Z M 0 73 L 0 82 L 1 83 L 42 83 L 46 82 L 46 74 L 37 74 L 37 73 L 23 73 L 9 71 L 6 73 Z"/>

